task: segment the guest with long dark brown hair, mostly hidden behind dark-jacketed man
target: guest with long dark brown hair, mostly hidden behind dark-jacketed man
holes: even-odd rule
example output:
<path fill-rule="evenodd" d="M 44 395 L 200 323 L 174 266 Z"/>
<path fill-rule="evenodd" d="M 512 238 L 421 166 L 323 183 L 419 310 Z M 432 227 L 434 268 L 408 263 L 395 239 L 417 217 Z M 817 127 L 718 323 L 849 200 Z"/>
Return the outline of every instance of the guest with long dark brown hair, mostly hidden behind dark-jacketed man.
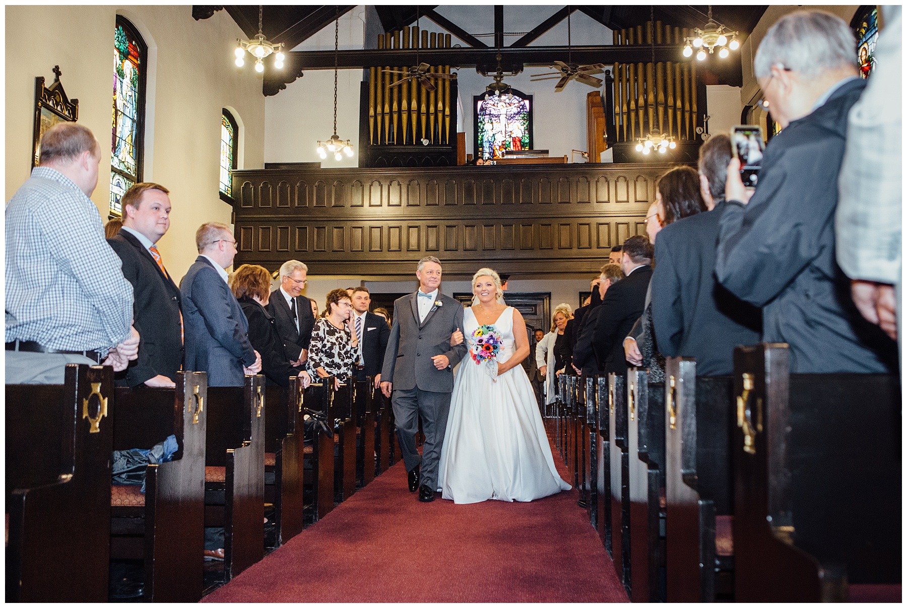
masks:
<path fill-rule="evenodd" d="M 697 215 L 707 209 L 699 192 L 699 177 L 696 170 L 689 167 L 676 167 L 658 178 L 655 182 L 654 218 L 646 225 L 649 241 L 654 244 L 655 237 L 662 227 L 668 226 L 684 217 Z M 660 222 L 654 221 L 660 218 Z M 678 260 L 682 264 L 682 260 Z M 631 365 L 641 365 L 649 370 L 649 380 L 665 380 L 665 358 L 658 352 L 655 343 L 655 332 L 652 327 L 652 286 L 646 294 L 646 310 L 633 325 L 627 338 L 624 339 L 624 355 Z"/>

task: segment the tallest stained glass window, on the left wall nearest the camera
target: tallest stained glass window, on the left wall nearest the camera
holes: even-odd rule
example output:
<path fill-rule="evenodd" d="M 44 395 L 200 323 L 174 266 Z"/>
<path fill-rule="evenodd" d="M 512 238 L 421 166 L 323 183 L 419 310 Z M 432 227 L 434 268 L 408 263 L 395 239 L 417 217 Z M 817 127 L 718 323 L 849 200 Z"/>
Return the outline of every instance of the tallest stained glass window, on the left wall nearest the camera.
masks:
<path fill-rule="evenodd" d="M 112 216 L 122 215 L 120 198 L 133 184 L 141 181 L 145 48 L 141 35 L 132 24 L 117 15 L 113 37 Z"/>

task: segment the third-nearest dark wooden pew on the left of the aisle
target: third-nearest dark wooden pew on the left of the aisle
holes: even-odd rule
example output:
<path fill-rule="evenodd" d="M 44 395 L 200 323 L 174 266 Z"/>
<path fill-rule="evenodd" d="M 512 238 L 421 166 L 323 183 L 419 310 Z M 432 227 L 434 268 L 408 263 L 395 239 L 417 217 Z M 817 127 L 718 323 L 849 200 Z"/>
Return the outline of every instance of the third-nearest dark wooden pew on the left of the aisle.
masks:
<path fill-rule="evenodd" d="M 265 386 L 208 388 L 205 526 L 224 528 L 224 581 L 264 556 Z"/>

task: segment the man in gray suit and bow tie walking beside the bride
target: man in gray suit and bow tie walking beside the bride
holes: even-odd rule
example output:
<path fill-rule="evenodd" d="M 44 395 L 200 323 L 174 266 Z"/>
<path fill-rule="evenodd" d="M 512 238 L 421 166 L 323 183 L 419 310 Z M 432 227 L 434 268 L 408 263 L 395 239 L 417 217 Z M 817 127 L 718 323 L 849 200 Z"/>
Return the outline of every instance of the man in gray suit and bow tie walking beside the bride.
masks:
<path fill-rule="evenodd" d="M 463 304 L 442 294 L 441 262 L 434 256 L 419 260 L 415 271 L 419 289 L 394 303 L 394 325 L 387 340 L 381 370 L 381 391 L 392 397 L 397 440 L 409 477 L 409 491 L 419 500 L 434 500 L 438 461 L 453 391 L 453 367 L 466 353 L 466 344 L 451 346 L 451 336 L 463 327 Z M 419 416 L 425 443 L 422 458 L 415 449 Z M 420 467 L 421 464 L 421 467 Z"/>

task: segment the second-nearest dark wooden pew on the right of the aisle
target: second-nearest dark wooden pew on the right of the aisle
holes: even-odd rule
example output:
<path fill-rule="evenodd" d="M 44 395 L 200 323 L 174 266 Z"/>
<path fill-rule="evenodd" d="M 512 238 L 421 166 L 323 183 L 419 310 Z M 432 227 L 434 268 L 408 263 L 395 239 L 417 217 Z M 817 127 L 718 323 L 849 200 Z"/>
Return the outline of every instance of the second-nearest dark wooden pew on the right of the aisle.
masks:
<path fill-rule="evenodd" d="M 668 359 L 665 376 L 667 599 L 714 602 L 733 569 L 729 535 L 717 536 L 733 513 L 732 379 L 697 378 L 687 358 Z"/>

